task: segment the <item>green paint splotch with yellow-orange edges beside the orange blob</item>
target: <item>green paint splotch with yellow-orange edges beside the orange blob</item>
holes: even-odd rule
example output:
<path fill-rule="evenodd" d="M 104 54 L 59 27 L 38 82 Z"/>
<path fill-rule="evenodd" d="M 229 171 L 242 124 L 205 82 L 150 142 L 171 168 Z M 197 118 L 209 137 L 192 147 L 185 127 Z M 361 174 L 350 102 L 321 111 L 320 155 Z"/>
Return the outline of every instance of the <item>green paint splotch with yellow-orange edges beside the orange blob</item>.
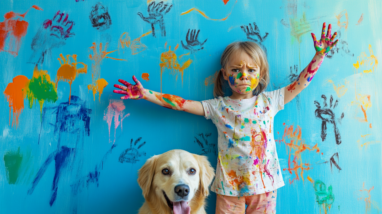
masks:
<path fill-rule="evenodd" d="M 33 77 L 27 84 L 27 96 L 29 107 L 32 108 L 37 100 L 40 104 L 41 112 L 42 105 L 45 101 L 56 102 L 58 99 L 55 82 L 50 81 L 50 76 L 47 74 L 47 71 L 38 70 L 37 65 L 34 67 Z"/>

